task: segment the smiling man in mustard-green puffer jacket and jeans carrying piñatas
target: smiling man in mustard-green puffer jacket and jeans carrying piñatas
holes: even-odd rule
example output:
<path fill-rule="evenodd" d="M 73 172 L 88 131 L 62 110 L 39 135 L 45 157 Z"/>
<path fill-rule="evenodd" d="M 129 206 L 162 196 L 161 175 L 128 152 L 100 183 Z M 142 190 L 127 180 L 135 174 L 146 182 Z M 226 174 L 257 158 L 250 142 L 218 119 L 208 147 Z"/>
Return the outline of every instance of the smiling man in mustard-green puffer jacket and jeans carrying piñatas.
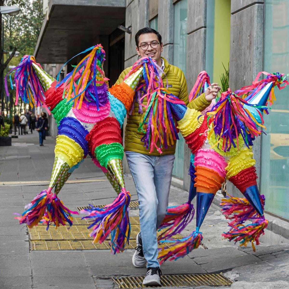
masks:
<path fill-rule="evenodd" d="M 202 111 L 216 97 L 220 86 L 213 83 L 205 93 L 189 103 L 186 78 L 177 66 L 173 66 L 161 57 L 163 51 L 162 36 L 154 29 L 145 27 L 135 36 L 136 51 L 140 57 L 150 56 L 156 61 L 163 83 L 168 81 L 168 90 L 183 100 L 189 108 Z M 123 81 L 131 67 L 125 69 L 116 83 Z M 143 105 L 147 104 L 144 99 Z M 175 145 L 149 153 L 141 142 L 142 134 L 138 126 L 145 113 L 139 112 L 138 101 L 134 103 L 133 114 L 127 118 L 125 127 L 125 154 L 131 175 L 134 179 L 139 202 L 140 232 L 136 236 L 136 251 L 132 258 L 135 267 L 147 266 L 144 285 L 160 285 L 160 265 L 158 262 L 158 241 L 156 231 L 168 207 L 168 194 L 171 186 Z"/>

